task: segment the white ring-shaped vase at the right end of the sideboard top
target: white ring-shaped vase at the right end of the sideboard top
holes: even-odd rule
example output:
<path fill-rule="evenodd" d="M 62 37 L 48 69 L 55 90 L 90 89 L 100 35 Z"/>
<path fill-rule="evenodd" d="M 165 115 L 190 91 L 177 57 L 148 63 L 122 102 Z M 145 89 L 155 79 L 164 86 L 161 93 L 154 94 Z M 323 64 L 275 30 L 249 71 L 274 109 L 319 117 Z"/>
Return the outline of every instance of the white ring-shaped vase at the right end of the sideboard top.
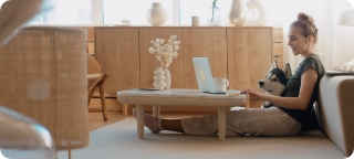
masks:
<path fill-rule="evenodd" d="M 250 0 L 247 2 L 249 11 L 248 26 L 263 26 L 267 23 L 267 13 L 260 0 Z"/>

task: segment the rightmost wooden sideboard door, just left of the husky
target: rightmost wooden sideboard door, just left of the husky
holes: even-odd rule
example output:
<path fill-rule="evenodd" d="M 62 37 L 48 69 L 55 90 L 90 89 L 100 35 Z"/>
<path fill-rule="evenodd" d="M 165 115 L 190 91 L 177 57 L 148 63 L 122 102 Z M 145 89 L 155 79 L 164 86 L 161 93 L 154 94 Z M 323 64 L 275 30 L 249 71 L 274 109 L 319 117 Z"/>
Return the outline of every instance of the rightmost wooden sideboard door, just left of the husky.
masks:
<path fill-rule="evenodd" d="M 230 89 L 258 89 L 271 65 L 272 29 L 227 29 Z"/>

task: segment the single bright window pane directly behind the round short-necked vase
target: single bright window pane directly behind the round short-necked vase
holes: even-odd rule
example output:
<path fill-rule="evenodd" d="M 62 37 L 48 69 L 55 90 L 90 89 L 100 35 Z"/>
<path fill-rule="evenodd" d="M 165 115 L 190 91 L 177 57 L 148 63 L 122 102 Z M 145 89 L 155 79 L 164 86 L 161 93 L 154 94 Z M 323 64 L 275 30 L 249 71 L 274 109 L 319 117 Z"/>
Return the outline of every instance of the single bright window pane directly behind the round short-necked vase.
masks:
<path fill-rule="evenodd" d="M 104 0 L 103 24 L 121 24 L 122 20 L 131 20 L 131 24 L 149 24 L 146 12 L 153 2 L 162 2 L 168 13 L 165 24 L 173 24 L 173 0 Z"/>

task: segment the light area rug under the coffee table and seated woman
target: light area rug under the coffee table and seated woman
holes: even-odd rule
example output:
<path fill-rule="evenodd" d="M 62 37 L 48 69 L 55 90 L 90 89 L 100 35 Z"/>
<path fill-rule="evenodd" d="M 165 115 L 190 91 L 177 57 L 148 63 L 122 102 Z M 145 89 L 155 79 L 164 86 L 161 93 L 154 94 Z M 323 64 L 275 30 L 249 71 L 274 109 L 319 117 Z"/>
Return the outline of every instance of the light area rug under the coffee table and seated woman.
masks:
<path fill-rule="evenodd" d="M 137 138 L 136 120 L 127 118 L 93 130 L 88 147 L 72 150 L 72 159 L 343 159 L 346 156 L 321 131 L 296 137 L 187 136 L 145 128 Z M 59 159 L 67 159 L 60 151 Z"/>

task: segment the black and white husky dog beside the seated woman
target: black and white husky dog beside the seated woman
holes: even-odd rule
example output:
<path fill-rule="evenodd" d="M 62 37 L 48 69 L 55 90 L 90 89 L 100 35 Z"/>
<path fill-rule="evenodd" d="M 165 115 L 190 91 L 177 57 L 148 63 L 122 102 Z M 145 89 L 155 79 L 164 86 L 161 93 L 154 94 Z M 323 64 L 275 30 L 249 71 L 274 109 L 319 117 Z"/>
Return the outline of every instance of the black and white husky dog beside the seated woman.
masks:
<path fill-rule="evenodd" d="M 266 94 L 274 96 L 284 96 L 287 92 L 287 83 L 292 75 L 290 64 L 285 64 L 284 68 L 278 67 L 277 60 L 272 63 L 266 78 L 258 82 L 259 88 Z M 269 108 L 273 104 L 267 100 L 263 102 L 263 108 Z"/>

